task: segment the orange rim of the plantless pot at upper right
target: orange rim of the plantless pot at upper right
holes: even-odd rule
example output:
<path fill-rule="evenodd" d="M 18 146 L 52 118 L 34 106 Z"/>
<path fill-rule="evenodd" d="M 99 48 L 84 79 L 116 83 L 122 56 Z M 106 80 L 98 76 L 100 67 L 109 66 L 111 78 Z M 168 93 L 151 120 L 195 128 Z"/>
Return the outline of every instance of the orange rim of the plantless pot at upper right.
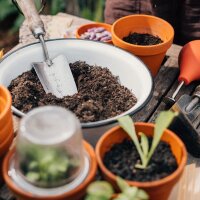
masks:
<path fill-rule="evenodd" d="M 145 18 L 152 18 L 152 19 L 156 19 L 156 20 L 159 20 L 161 21 L 163 24 L 165 24 L 166 26 L 170 27 L 171 29 L 171 37 L 164 41 L 163 43 L 160 43 L 160 44 L 156 44 L 156 45 L 148 45 L 148 46 L 145 46 L 145 45 L 135 45 L 135 44 L 130 44 L 128 42 L 125 42 L 123 41 L 121 38 L 119 38 L 116 33 L 115 33 L 115 26 L 120 22 L 120 21 L 123 21 L 123 20 L 126 20 L 126 19 L 129 19 L 129 18 L 134 18 L 134 17 L 145 17 Z M 118 42 L 120 42 L 122 45 L 125 45 L 125 46 L 129 46 L 129 47 L 134 47 L 134 48 L 138 48 L 138 49 L 145 49 L 145 50 L 153 50 L 153 49 L 162 49 L 162 52 L 166 51 L 169 47 L 170 47 L 170 42 L 173 40 L 174 38 L 174 29 L 173 27 L 171 26 L 171 24 L 169 24 L 167 21 L 159 18 L 159 17 L 155 17 L 155 16 L 152 16 L 152 15 L 143 15 L 143 14 L 135 14 L 135 15 L 128 15 L 126 17 L 122 17 L 118 20 L 116 20 L 114 22 L 114 24 L 112 25 L 112 28 L 111 28 L 111 33 L 112 33 L 112 36 L 115 37 L 116 40 L 118 40 Z M 149 54 L 150 55 L 150 54 Z M 153 54 L 152 54 L 153 55 Z"/>

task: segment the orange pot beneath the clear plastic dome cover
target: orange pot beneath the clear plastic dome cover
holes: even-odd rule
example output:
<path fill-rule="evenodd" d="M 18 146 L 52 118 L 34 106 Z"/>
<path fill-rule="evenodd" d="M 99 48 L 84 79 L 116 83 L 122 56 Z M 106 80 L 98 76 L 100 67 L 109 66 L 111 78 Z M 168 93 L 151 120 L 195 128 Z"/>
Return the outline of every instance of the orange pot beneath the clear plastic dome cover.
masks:
<path fill-rule="evenodd" d="M 61 195 L 51 196 L 51 197 L 38 197 L 34 196 L 31 193 L 28 193 L 26 191 L 23 191 L 21 188 L 19 188 L 10 178 L 8 175 L 8 169 L 9 169 L 9 161 L 11 157 L 13 156 L 15 149 L 12 149 L 5 157 L 3 162 L 3 177 L 5 179 L 5 182 L 7 186 L 10 188 L 10 190 L 13 192 L 13 194 L 18 198 L 18 200 L 80 200 L 86 193 L 87 186 L 95 179 L 96 171 L 97 171 L 97 161 L 95 158 L 95 153 L 92 148 L 92 146 L 84 142 L 85 150 L 87 151 L 89 157 L 90 157 L 90 170 L 83 181 L 81 185 L 79 185 L 77 188 L 71 190 L 70 192 L 63 193 Z"/>

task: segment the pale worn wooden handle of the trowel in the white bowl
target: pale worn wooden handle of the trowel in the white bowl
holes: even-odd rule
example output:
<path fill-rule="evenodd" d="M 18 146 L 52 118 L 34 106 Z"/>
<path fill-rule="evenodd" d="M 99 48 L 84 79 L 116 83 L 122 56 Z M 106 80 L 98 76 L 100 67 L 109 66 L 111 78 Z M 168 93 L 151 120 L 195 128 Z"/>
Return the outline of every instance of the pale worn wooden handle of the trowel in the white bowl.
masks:
<path fill-rule="evenodd" d="M 15 0 L 23 12 L 30 30 L 35 38 L 39 38 L 40 35 L 45 35 L 44 24 L 40 19 L 40 16 L 35 7 L 34 0 Z"/>

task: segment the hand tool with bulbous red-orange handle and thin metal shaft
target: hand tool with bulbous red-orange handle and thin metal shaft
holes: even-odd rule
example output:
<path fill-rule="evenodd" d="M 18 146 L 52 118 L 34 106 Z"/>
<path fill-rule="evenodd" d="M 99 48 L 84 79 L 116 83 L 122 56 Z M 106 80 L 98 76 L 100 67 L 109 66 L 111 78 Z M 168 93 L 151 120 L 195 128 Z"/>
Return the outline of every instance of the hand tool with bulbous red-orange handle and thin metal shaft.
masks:
<path fill-rule="evenodd" d="M 176 96 L 182 86 L 190 84 L 192 81 L 200 79 L 200 40 L 194 40 L 187 43 L 179 54 L 179 85 L 172 97 L 165 97 L 163 102 L 172 106 L 176 100 Z"/>

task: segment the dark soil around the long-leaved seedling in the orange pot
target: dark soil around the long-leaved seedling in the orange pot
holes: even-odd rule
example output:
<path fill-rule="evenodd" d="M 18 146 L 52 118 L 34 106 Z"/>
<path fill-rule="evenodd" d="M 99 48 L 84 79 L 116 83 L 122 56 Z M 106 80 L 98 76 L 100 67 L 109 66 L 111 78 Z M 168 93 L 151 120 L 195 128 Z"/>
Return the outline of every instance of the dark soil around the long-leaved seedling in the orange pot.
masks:
<path fill-rule="evenodd" d="M 151 138 L 149 142 L 151 144 Z M 139 182 L 159 180 L 173 173 L 178 167 L 170 145 L 163 141 L 157 146 L 146 169 L 135 168 L 135 164 L 140 163 L 140 157 L 133 142 L 127 139 L 113 145 L 106 152 L 103 162 L 113 174 Z"/>

